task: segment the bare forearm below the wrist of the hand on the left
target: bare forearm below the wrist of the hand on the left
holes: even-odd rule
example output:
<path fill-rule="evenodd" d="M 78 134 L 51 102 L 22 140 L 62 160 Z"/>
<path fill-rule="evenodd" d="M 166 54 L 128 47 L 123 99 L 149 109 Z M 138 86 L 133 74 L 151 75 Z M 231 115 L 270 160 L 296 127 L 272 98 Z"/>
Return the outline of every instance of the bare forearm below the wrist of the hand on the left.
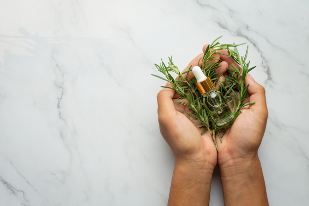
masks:
<path fill-rule="evenodd" d="M 168 206 L 208 206 L 213 168 L 175 163 Z"/>

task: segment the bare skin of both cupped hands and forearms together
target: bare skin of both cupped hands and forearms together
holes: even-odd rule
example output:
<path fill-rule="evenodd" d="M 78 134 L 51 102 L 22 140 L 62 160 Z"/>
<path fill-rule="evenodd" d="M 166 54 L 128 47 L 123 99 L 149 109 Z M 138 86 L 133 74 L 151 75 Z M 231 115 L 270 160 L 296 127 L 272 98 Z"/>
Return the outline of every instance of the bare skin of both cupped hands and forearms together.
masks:
<path fill-rule="evenodd" d="M 203 52 L 206 47 L 203 47 Z M 202 56 L 203 53 L 197 55 L 185 70 L 198 65 Z M 226 68 L 231 65 L 239 67 L 223 54 L 218 55 L 219 58 L 222 66 L 216 70 L 218 76 L 227 72 Z M 190 78 L 193 78 L 192 72 Z M 200 135 L 201 129 L 186 114 L 188 108 L 175 103 L 179 100 L 174 90 L 164 88 L 157 94 L 160 131 L 175 157 L 168 206 L 208 206 L 216 165 L 220 170 L 226 206 L 268 206 L 258 158 L 268 117 L 265 89 L 250 75 L 245 83 L 250 84 L 248 101 L 255 104 L 243 108 L 223 136 L 222 143 L 217 140 L 219 153 L 208 132 Z"/>

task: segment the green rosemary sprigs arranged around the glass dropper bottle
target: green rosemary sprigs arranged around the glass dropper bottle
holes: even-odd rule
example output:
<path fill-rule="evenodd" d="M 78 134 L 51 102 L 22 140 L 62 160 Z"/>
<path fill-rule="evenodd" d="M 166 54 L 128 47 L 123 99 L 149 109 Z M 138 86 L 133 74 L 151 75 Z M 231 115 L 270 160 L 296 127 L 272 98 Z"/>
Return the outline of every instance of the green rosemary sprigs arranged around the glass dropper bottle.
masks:
<path fill-rule="evenodd" d="M 226 55 L 222 52 L 223 49 L 228 51 L 228 56 L 238 64 L 238 67 L 235 68 L 231 65 L 232 68 L 227 68 L 227 73 L 221 75 L 224 78 L 224 81 L 218 82 L 219 91 L 223 94 L 225 101 L 231 106 L 232 113 L 234 118 L 229 124 L 218 126 L 209 115 L 208 111 L 205 109 L 203 104 L 203 98 L 199 93 L 197 87 L 195 86 L 195 78 L 188 79 L 189 73 L 192 71 L 192 66 L 189 70 L 185 72 L 180 72 L 178 67 L 172 61 L 172 57 L 169 57 L 168 64 L 166 65 L 163 60 L 160 64 L 154 64 L 157 70 L 164 75 L 160 77 L 158 75 L 153 75 L 154 77 L 160 78 L 166 82 L 171 83 L 172 87 L 162 86 L 165 88 L 170 88 L 175 90 L 179 95 L 178 99 L 186 99 L 186 102 L 179 101 L 177 103 L 183 104 L 190 109 L 190 112 L 187 114 L 192 118 L 191 120 L 198 120 L 198 126 L 202 127 L 203 130 L 201 134 L 205 131 L 209 131 L 211 137 L 214 141 L 215 147 L 218 150 L 216 142 L 216 134 L 218 134 L 220 142 L 224 133 L 227 132 L 228 126 L 231 126 L 238 115 L 241 113 L 241 109 L 247 105 L 254 103 L 244 103 L 244 100 L 247 99 L 248 86 L 245 86 L 245 78 L 248 72 L 250 72 L 255 67 L 249 68 L 250 61 L 246 62 L 248 55 L 248 46 L 244 56 L 241 56 L 237 50 L 237 46 L 242 44 L 220 44 L 218 41 L 221 37 L 215 39 L 210 45 L 207 46 L 203 58 L 200 60 L 201 69 L 205 76 L 209 76 L 211 80 L 216 84 L 219 80 L 219 77 L 216 77 L 215 70 L 220 67 L 219 63 L 221 62 L 220 55 Z M 175 73 L 178 77 L 175 79 L 171 75 Z"/>

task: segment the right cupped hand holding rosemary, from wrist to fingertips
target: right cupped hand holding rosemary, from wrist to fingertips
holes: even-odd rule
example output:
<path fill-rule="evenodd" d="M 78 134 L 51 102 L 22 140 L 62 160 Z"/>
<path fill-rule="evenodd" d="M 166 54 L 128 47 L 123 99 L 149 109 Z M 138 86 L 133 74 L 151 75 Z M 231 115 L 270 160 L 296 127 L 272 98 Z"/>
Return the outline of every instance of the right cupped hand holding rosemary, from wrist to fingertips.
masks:
<path fill-rule="evenodd" d="M 221 53 L 228 54 L 222 50 Z M 220 55 L 224 66 L 229 68 L 239 68 L 239 65 L 231 57 Z M 224 68 L 221 69 L 224 73 Z M 256 158 L 258 148 L 261 144 L 268 110 L 266 105 L 265 89 L 262 85 L 255 82 L 251 75 L 247 75 L 245 85 L 249 84 L 247 102 L 255 104 L 242 109 L 242 113 L 229 128 L 228 133 L 224 134 L 222 143 L 218 143 L 218 165 L 225 165 L 229 161 Z"/>

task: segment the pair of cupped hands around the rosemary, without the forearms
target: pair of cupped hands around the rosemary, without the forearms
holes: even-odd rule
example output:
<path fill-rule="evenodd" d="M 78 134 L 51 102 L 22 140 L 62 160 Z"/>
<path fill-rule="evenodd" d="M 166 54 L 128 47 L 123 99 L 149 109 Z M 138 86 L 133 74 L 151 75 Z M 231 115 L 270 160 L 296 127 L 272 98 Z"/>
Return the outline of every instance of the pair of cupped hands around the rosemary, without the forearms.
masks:
<path fill-rule="evenodd" d="M 205 52 L 207 45 L 203 46 L 203 52 Z M 226 68 L 239 68 L 239 65 L 229 55 L 224 55 L 228 54 L 227 50 L 222 50 L 220 53 L 216 54 L 218 55 L 216 60 L 212 60 L 219 61 L 220 58 L 219 64 L 221 66 L 216 69 L 217 77 L 226 73 Z M 200 60 L 202 58 L 203 53 L 197 55 L 184 71 L 198 64 L 201 67 Z M 189 79 L 192 78 L 193 73 L 190 72 Z M 220 80 L 224 79 L 221 77 Z M 185 100 L 177 99 L 178 96 L 172 89 L 163 88 L 159 91 L 157 102 L 160 132 L 173 151 L 175 163 L 214 170 L 216 165 L 219 168 L 230 167 L 258 158 L 258 148 L 265 132 L 268 117 L 265 89 L 249 74 L 247 74 L 245 84 L 249 84 L 246 101 L 255 103 L 242 109 L 242 113 L 223 135 L 222 142 L 219 141 L 219 137 L 216 137 L 219 152 L 217 152 L 209 132 L 206 131 L 201 135 L 202 128 L 191 121 L 186 113 L 188 107 L 176 103 Z M 167 83 L 167 86 L 171 85 Z"/>

